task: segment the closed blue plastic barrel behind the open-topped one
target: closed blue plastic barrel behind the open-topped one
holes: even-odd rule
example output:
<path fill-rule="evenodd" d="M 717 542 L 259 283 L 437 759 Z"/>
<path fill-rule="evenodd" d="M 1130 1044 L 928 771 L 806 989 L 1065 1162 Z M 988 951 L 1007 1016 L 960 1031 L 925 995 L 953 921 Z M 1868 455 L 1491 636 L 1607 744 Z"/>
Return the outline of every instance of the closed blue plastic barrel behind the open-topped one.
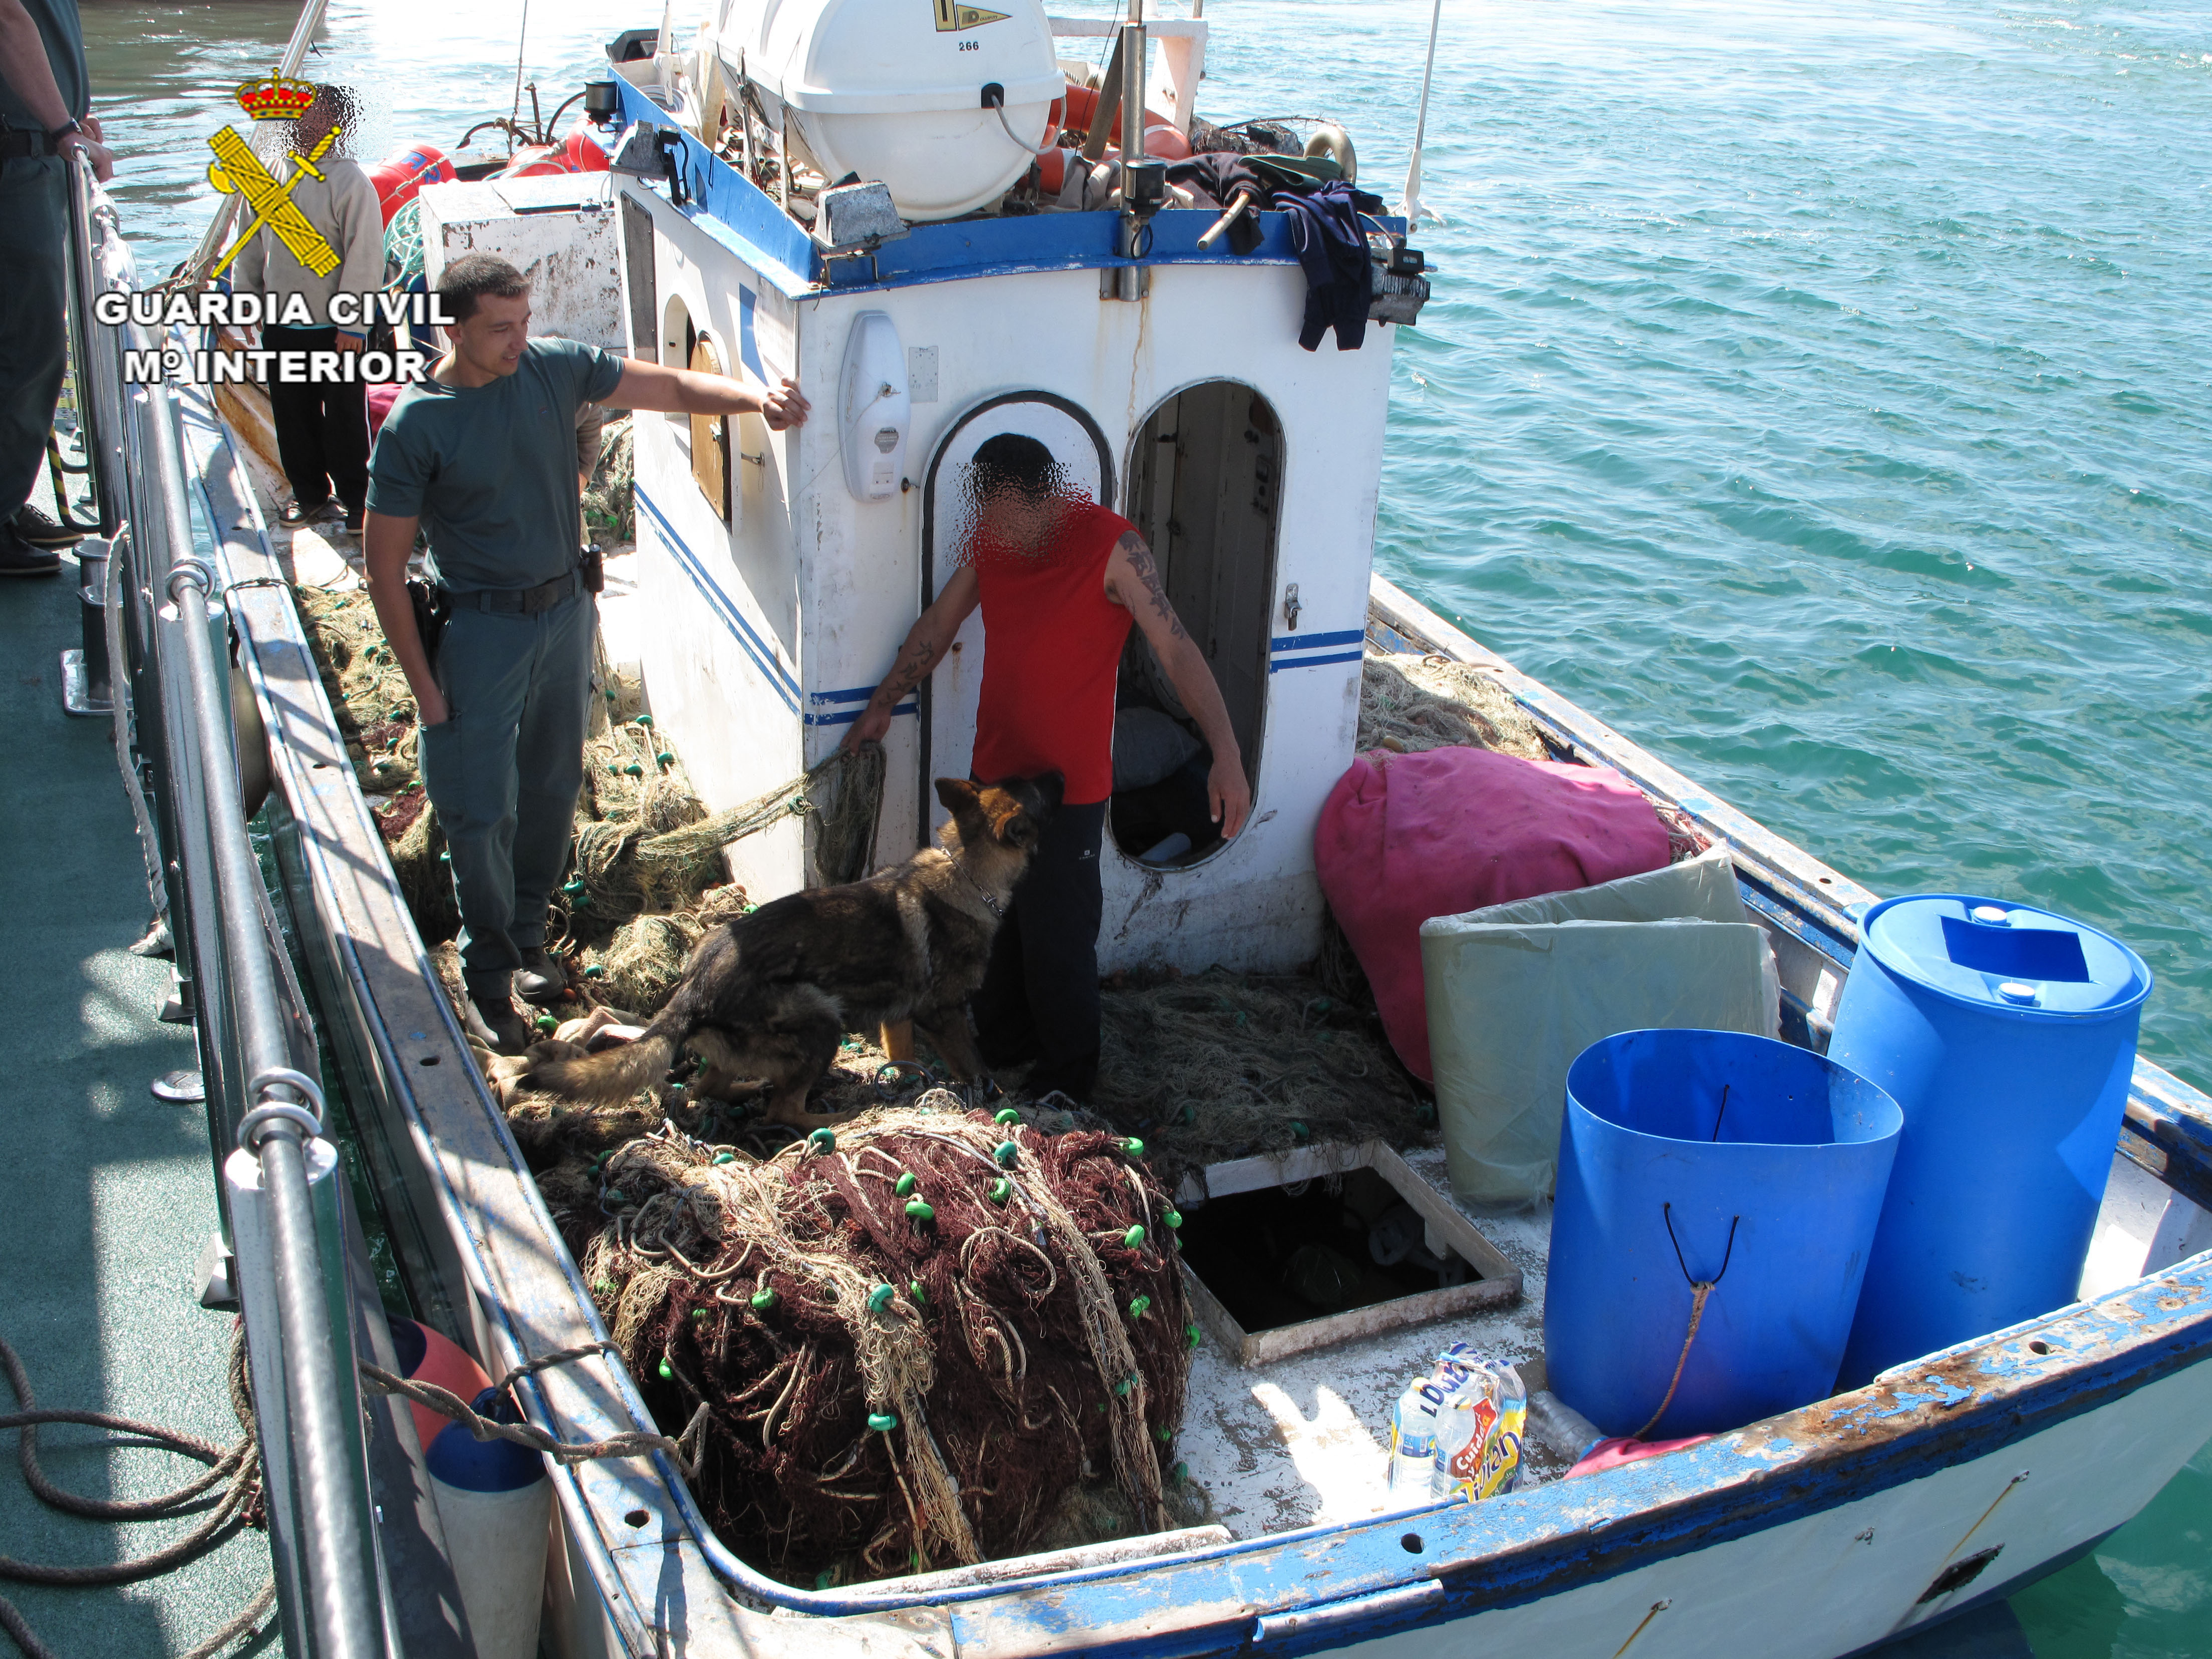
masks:
<path fill-rule="evenodd" d="M 2143 958 L 2044 909 L 1867 911 L 1827 1053 L 1896 1097 L 1905 1135 L 1847 1385 L 2075 1298 L 2148 995 Z"/>

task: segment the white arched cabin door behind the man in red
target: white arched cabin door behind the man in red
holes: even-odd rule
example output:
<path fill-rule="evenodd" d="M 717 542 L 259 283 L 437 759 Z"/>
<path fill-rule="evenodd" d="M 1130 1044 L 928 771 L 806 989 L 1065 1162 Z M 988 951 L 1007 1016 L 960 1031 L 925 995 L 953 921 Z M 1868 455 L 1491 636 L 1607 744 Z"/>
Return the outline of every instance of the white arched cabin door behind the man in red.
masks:
<path fill-rule="evenodd" d="M 1088 414 L 1051 392 L 1009 392 L 969 409 L 945 434 L 922 480 L 922 571 L 929 591 L 922 604 L 936 599 L 960 568 L 969 529 L 969 460 L 975 449 L 1002 431 L 1035 438 L 1053 451 L 1071 489 L 1095 502 L 1113 504 L 1113 453 L 1106 436 Z M 933 832 L 947 812 L 938 805 L 933 779 L 964 779 L 975 752 L 975 699 L 982 695 L 982 611 L 975 611 L 953 639 L 951 655 L 922 681 L 922 803 Z"/>

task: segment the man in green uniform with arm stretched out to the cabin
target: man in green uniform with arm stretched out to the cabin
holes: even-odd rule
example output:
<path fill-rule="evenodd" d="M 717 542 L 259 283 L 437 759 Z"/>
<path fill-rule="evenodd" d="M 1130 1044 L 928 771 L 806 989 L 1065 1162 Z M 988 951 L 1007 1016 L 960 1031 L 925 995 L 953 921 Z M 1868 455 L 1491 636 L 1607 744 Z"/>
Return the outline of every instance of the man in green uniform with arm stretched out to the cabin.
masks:
<path fill-rule="evenodd" d="M 531 290 L 469 254 L 438 283 L 451 349 L 392 405 L 369 458 L 369 597 L 422 714 L 422 787 L 460 900 L 469 1029 L 502 1053 L 531 1031 L 511 1002 L 553 998 L 546 900 L 568 865 L 584 785 L 597 606 L 577 549 L 575 420 L 584 403 L 807 418 L 799 387 L 748 387 L 593 345 L 529 336 Z M 425 655 L 407 599 L 416 529 L 449 615 Z"/>

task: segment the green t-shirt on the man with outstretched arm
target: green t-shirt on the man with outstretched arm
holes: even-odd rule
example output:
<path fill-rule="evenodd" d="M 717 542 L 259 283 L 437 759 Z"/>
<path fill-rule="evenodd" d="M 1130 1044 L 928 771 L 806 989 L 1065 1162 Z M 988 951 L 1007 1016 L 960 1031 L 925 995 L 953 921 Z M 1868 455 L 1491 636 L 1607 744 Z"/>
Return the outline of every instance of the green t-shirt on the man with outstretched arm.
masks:
<path fill-rule="evenodd" d="M 416 380 L 369 456 L 369 511 L 420 518 L 429 573 L 456 593 L 535 588 L 577 562 L 575 411 L 606 398 L 622 358 L 538 338 L 513 374 Z"/>

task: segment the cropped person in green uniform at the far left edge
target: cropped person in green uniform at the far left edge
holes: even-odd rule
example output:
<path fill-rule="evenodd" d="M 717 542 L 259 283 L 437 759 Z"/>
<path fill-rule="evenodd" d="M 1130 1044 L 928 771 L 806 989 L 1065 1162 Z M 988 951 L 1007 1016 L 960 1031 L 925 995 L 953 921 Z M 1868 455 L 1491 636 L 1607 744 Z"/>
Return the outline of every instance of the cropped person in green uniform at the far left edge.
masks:
<path fill-rule="evenodd" d="M 88 111 L 77 0 L 0 0 L 0 575 L 53 575 L 75 540 L 29 500 L 69 361 L 66 157 L 115 173 Z"/>

